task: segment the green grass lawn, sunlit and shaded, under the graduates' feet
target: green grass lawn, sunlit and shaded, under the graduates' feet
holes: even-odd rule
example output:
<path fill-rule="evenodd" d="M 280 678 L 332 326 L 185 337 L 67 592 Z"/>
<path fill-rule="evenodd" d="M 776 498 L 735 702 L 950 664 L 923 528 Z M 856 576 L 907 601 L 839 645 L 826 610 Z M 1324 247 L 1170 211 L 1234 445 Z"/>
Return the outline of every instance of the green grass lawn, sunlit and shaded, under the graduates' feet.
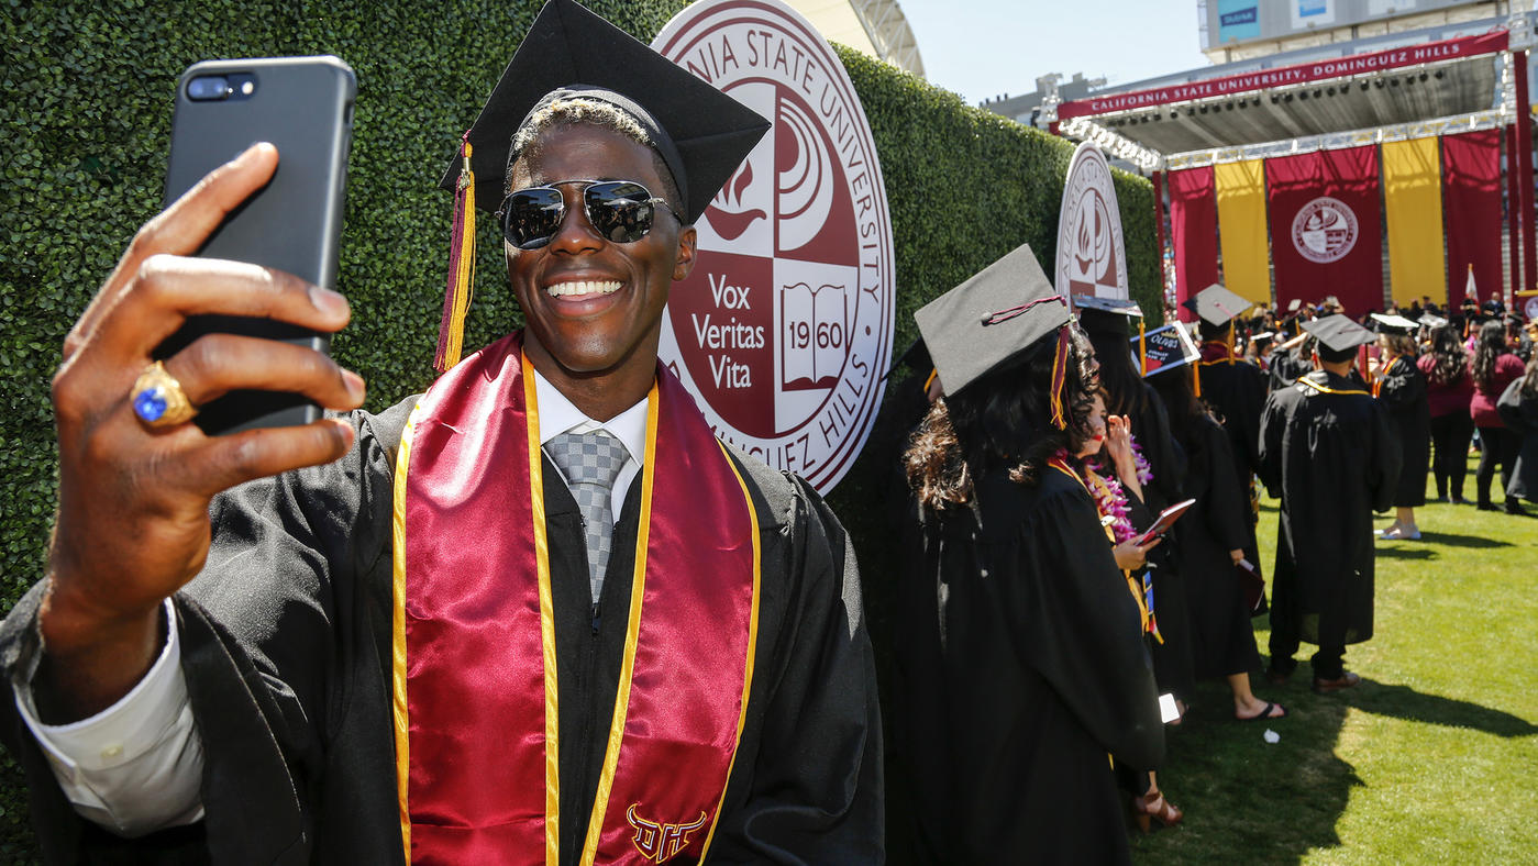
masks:
<path fill-rule="evenodd" d="M 1263 500 L 1267 575 L 1277 520 Z M 1538 517 L 1430 503 L 1416 523 L 1378 541 L 1375 635 L 1346 649 L 1361 686 L 1315 695 L 1310 645 L 1286 686 L 1252 674 L 1289 718 L 1232 721 L 1227 686 L 1198 686 L 1158 774 L 1186 820 L 1135 861 L 1538 863 Z M 1266 617 L 1255 638 L 1264 657 Z"/>

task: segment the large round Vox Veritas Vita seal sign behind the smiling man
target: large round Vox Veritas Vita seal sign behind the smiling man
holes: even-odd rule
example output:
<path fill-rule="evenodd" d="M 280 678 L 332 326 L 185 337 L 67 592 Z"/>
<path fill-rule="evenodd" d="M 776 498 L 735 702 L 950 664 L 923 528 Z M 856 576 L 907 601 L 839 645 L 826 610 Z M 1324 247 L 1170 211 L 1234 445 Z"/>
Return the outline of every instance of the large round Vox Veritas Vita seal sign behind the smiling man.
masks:
<path fill-rule="evenodd" d="M 701 0 L 652 48 L 774 120 L 695 223 L 663 363 L 720 438 L 826 492 L 864 446 L 892 363 L 892 221 L 864 109 L 778 0 Z"/>

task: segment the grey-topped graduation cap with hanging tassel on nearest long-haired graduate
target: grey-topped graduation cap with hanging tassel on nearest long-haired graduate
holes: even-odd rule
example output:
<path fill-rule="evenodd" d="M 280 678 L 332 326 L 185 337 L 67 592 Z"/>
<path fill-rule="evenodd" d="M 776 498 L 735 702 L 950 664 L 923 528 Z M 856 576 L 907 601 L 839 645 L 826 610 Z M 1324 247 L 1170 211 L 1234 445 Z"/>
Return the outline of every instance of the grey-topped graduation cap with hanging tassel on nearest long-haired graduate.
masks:
<path fill-rule="evenodd" d="M 1052 289 L 1029 245 L 989 265 L 914 314 L 946 394 L 958 394 L 994 368 L 1041 340 L 1057 337 L 1052 363 L 1052 423 L 1067 426 L 1063 380 L 1067 371 L 1067 298 Z"/>

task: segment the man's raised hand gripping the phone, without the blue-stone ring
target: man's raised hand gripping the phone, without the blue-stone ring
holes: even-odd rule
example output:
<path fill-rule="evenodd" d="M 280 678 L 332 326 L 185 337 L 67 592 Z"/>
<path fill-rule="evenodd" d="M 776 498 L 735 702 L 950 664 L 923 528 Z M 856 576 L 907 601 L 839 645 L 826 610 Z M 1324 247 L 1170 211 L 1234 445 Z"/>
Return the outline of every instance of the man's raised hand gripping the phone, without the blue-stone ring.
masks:
<path fill-rule="evenodd" d="M 189 317 L 238 315 L 321 334 L 348 323 L 346 300 L 314 280 L 189 258 L 208 249 L 228 217 L 249 211 L 246 202 L 278 171 L 271 145 L 237 152 L 138 231 L 65 338 L 52 388 L 58 515 L 51 592 L 38 614 L 51 661 L 34 680 L 46 721 L 109 706 L 148 669 L 161 600 L 208 555 L 214 494 L 335 460 L 352 445 L 352 426 L 341 420 L 208 437 L 192 425 L 149 428 L 131 405 L 135 377 Z M 334 409 L 363 403 L 357 374 L 305 346 L 208 334 L 163 363 L 200 406 L 231 391 L 271 388 Z"/>

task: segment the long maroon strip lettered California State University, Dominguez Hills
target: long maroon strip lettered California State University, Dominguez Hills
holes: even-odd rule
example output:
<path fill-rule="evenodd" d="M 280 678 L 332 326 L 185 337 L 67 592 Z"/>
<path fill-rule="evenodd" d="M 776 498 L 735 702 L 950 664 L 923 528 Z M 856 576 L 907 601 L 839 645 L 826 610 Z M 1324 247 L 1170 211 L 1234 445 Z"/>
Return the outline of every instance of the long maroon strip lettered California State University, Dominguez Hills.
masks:
<path fill-rule="evenodd" d="M 1058 120 L 1061 122 L 1090 114 L 1132 111 L 1137 108 L 1154 108 L 1172 102 L 1227 97 L 1286 85 L 1341 78 L 1346 75 L 1360 75 L 1363 72 L 1381 72 L 1386 69 L 1398 69 L 1401 66 L 1415 66 L 1418 63 L 1478 57 L 1481 54 L 1493 54 L 1496 51 L 1506 51 L 1506 31 L 1495 31 L 1466 38 L 1429 42 L 1424 45 L 1407 45 L 1404 48 L 1390 48 L 1387 51 L 1357 54 L 1352 57 L 1310 60 L 1309 63 L 1297 63 L 1293 66 L 1260 69 L 1255 72 L 1229 75 L 1226 78 L 1207 78 L 1204 82 L 1189 82 L 1169 88 L 1152 88 L 1147 91 L 1132 91 L 1087 100 L 1074 100 L 1058 106 Z"/>

